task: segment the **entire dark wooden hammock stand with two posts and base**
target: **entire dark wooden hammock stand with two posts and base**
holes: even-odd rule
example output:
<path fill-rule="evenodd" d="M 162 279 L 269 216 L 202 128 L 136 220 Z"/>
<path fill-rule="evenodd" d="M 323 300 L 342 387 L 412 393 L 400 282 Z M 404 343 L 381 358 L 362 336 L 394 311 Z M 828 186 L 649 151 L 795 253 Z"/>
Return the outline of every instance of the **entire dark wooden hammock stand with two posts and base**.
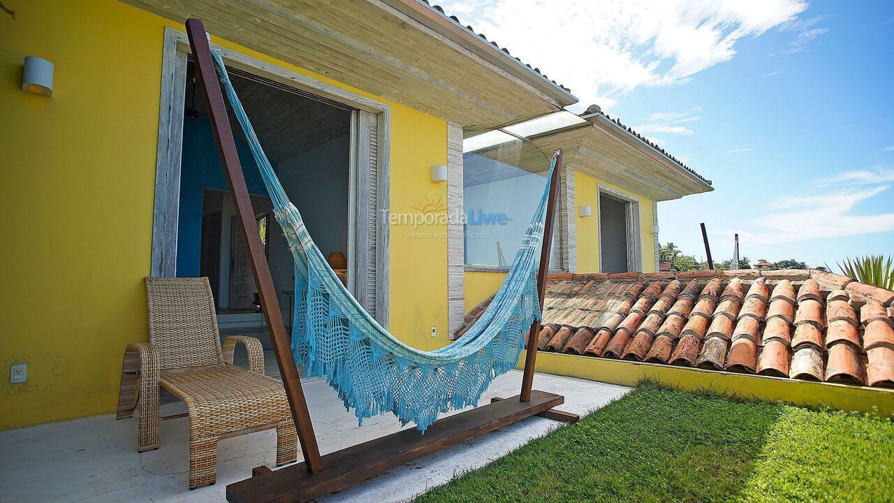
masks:
<path fill-rule="evenodd" d="M 202 82 L 208 116 L 215 132 L 217 151 L 226 172 L 227 183 L 232 191 L 242 232 L 246 236 L 251 269 L 254 273 L 261 305 L 265 307 L 278 306 L 273 277 L 270 276 L 270 267 L 257 233 L 255 213 L 251 207 L 245 177 L 242 175 L 242 167 L 236 151 L 236 143 L 233 140 L 226 106 L 223 102 L 223 93 L 220 83 L 217 81 L 205 27 L 202 21 L 190 19 L 186 21 L 186 31 L 190 38 L 198 76 Z M 556 167 L 552 172 L 543 248 L 540 253 L 540 269 L 537 271 L 537 287 L 541 305 L 544 303 L 546 272 L 549 265 L 550 244 L 552 243 L 552 223 L 555 217 L 556 196 L 559 192 L 561 151 L 558 156 Z M 527 335 L 527 347 L 535 349 L 527 351 L 521 393 L 518 396 L 505 399 L 494 398 L 488 405 L 445 417 L 434 422 L 425 435 L 419 434 L 415 429 L 406 429 L 350 448 L 344 448 L 326 456 L 320 456 L 314 428 L 310 422 L 308 404 L 304 399 L 298 370 L 291 354 L 289 336 L 283 323 L 283 314 L 279 309 L 264 309 L 264 316 L 273 339 L 276 362 L 279 365 L 280 375 L 283 377 L 283 386 L 289 400 L 291 414 L 298 430 L 304 463 L 286 466 L 275 471 L 266 466 L 258 466 L 252 470 L 251 478 L 227 486 L 227 501 L 234 503 L 306 502 L 350 487 L 437 450 L 494 431 L 513 422 L 519 422 L 532 415 L 540 415 L 562 422 L 578 421 L 577 414 L 552 409 L 552 407 L 564 403 L 564 396 L 531 389 L 537 356 L 537 334 L 540 333 L 540 322 L 535 321 Z"/>

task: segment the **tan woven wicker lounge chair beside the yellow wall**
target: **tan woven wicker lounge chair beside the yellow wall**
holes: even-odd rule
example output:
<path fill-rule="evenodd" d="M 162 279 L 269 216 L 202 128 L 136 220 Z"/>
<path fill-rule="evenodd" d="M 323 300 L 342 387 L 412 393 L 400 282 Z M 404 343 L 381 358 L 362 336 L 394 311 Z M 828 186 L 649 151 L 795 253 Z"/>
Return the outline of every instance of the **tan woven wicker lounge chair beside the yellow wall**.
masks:
<path fill-rule="evenodd" d="M 124 351 L 117 419 L 139 403 L 139 452 L 156 449 L 159 422 L 190 417 L 190 489 L 216 479 L 217 441 L 276 429 L 276 465 L 295 461 L 298 437 L 283 383 L 264 375 L 255 337 L 226 337 L 221 345 L 207 277 L 147 277 L 149 342 Z M 245 345 L 249 369 L 232 364 Z M 159 385 L 186 403 L 188 413 L 159 416 Z"/>

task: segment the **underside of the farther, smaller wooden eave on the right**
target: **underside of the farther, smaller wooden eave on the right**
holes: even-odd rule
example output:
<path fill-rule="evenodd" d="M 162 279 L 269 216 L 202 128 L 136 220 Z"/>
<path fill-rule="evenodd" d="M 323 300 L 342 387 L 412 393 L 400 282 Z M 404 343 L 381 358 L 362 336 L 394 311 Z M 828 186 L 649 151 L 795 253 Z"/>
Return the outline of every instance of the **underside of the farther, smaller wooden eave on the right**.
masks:
<path fill-rule="evenodd" d="M 530 137 L 538 149 L 564 151 L 565 165 L 651 200 L 674 200 L 713 187 L 603 115 Z"/>

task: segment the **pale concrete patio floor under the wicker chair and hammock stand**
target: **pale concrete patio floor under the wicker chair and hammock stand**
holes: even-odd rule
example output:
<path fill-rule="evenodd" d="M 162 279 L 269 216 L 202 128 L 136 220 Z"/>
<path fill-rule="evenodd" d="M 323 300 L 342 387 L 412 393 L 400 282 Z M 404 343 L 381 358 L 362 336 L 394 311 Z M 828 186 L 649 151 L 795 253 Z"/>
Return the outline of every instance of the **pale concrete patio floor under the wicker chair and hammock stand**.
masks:
<path fill-rule="evenodd" d="M 519 393 L 521 372 L 493 381 L 492 396 Z M 534 387 L 565 396 L 562 410 L 584 414 L 626 394 L 630 388 L 583 379 L 536 374 Z M 364 421 L 322 380 L 304 384 L 323 454 L 401 430 L 391 414 Z M 162 413 L 185 412 L 180 403 Z M 319 503 L 390 503 L 412 499 L 455 475 L 486 465 L 558 426 L 539 417 L 510 425 L 467 443 L 403 465 L 353 488 L 319 498 Z M 409 426 L 411 427 L 411 426 Z M 275 435 L 261 431 L 218 444 L 217 483 L 187 489 L 189 420 L 162 423 L 161 448 L 138 454 L 136 417 L 114 421 L 114 414 L 0 432 L 0 487 L 3 501 L 223 501 L 226 485 L 249 476 L 257 465 L 273 465 Z M 300 456 L 299 456 L 300 458 Z"/>

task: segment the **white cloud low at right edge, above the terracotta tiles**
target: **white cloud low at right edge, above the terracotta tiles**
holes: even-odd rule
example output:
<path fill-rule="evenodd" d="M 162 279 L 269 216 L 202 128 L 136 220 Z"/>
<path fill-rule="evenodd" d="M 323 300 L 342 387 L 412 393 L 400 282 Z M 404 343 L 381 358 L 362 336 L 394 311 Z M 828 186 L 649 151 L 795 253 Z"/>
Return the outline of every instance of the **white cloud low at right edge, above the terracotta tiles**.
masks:
<path fill-rule="evenodd" d="M 768 205 L 771 211 L 747 222 L 748 230 L 739 234 L 743 242 L 761 245 L 894 231 L 894 213 L 852 213 L 858 203 L 872 199 L 889 187 L 846 187 L 774 200 Z"/>

